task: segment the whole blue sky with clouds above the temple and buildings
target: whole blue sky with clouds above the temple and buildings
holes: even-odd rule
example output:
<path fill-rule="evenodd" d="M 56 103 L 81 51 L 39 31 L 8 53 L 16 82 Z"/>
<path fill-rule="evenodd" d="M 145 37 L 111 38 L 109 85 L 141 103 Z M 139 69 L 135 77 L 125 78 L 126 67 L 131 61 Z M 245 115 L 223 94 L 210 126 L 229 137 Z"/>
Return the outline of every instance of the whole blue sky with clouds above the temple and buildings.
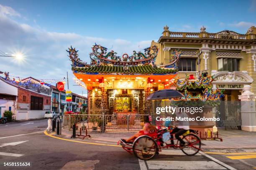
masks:
<path fill-rule="evenodd" d="M 131 53 L 158 40 L 166 24 L 170 31 L 199 32 L 204 25 L 207 32 L 246 33 L 256 26 L 256 0 L 0 0 L 0 50 L 26 53 L 22 63 L 2 59 L 0 70 L 38 79 L 58 79 L 69 71 L 72 77 L 69 45 L 90 62 L 94 42 Z"/>

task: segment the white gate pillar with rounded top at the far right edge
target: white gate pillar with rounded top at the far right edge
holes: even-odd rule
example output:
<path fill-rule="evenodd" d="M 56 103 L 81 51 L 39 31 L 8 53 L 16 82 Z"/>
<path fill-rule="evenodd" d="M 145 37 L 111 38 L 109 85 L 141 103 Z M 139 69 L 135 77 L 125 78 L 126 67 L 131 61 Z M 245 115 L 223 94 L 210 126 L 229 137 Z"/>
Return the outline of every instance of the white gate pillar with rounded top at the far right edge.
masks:
<path fill-rule="evenodd" d="M 241 100 L 241 128 L 249 132 L 256 132 L 256 95 L 251 92 L 251 86 L 245 85 L 244 92 L 238 95 Z"/>

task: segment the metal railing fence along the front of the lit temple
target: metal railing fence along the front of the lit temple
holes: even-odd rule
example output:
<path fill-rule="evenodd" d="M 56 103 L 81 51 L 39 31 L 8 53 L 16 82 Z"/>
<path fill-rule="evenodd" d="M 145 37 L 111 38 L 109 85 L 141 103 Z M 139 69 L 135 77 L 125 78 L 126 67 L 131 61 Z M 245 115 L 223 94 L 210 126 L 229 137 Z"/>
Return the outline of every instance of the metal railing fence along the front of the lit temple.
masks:
<path fill-rule="evenodd" d="M 82 132 L 105 131 L 138 131 L 143 128 L 144 120 L 149 115 L 64 115 L 64 130 L 72 131 L 73 124 L 76 130 Z"/>

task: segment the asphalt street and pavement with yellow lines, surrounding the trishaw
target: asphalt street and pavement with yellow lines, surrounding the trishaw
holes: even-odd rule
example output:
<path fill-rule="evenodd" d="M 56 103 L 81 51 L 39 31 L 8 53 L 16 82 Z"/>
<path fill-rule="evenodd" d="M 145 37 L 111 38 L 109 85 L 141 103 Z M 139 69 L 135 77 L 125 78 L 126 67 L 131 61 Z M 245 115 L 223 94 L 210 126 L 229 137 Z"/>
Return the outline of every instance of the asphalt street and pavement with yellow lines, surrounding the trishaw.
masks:
<path fill-rule="evenodd" d="M 116 145 L 132 133 L 91 133 L 91 138 L 82 140 L 70 139 L 71 134 L 65 131 L 62 135 L 47 132 L 46 127 L 46 119 L 0 125 L 0 169 L 256 169 L 256 133 L 220 130 L 223 142 L 203 140 L 203 152 L 195 156 L 172 149 L 143 161 Z"/>

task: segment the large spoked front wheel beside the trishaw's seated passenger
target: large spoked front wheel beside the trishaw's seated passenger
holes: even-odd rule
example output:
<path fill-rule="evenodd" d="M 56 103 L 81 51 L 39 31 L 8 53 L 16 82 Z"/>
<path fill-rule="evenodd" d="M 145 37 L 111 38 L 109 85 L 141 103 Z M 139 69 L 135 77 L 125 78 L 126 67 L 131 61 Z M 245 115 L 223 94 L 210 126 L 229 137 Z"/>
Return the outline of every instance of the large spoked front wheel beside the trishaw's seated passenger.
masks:
<path fill-rule="evenodd" d="M 156 155 L 157 144 L 149 136 L 138 137 L 133 142 L 133 153 L 141 160 L 149 160 Z"/>

